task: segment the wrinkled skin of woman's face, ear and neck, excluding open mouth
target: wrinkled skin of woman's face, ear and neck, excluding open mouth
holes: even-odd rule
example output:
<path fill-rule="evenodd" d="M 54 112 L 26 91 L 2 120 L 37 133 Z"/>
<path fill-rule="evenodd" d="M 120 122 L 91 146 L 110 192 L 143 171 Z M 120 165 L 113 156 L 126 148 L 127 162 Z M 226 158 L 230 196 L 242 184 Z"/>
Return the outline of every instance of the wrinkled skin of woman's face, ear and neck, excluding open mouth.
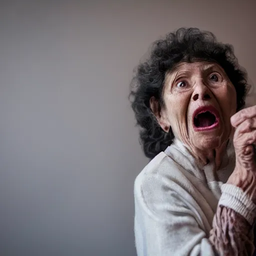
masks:
<path fill-rule="evenodd" d="M 233 132 L 230 117 L 236 111 L 236 91 L 225 71 L 214 62 L 181 62 L 166 73 L 163 88 L 164 107 L 157 112 L 158 103 L 152 97 L 150 106 L 164 131 L 171 126 L 174 136 L 181 140 L 203 164 L 221 156 Z M 199 106 L 212 105 L 220 115 L 219 125 L 208 131 L 195 131 L 193 112 Z"/>

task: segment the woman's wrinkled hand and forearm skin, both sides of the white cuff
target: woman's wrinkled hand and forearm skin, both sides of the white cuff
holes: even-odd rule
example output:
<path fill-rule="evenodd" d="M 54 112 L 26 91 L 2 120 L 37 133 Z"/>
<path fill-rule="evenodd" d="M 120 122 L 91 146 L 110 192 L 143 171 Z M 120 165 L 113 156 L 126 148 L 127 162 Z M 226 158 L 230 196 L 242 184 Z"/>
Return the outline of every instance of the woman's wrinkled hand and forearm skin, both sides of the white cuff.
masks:
<path fill-rule="evenodd" d="M 233 144 L 235 168 L 227 183 L 240 187 L 256 203 L 256 105 L 235 113 L 230 122 L 235 128 Z M 212 222 L 209 241 L 217 255 L 252 255 L 253 226 L 234 210 L 219 205 Z"/>

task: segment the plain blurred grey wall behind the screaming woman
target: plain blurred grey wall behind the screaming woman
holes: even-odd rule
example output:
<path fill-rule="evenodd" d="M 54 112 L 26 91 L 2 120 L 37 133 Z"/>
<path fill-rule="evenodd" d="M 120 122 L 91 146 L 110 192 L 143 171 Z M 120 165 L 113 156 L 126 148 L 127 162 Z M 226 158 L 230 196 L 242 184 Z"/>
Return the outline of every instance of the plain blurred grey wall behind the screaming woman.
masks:
<path fill-rule="evenodd" d="M 254 0 L 0 1 L 0 255 L 135 255 L 147 163 L 127 96 L 181 26 L 233 44 L 256 81 Z"/>

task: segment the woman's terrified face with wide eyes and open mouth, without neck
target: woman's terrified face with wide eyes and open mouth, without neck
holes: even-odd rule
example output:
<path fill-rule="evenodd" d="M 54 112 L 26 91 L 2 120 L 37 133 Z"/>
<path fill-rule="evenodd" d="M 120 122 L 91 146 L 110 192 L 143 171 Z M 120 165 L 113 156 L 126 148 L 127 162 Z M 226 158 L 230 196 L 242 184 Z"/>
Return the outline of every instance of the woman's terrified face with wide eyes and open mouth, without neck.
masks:
<path fill-rule="evenodd" d="M 166 74 L 164 107 L 158 121 L 192 148 L 213 149 L 231 132 L 236 91 L 225 71 L 214 62 L 181 62 Z"/>

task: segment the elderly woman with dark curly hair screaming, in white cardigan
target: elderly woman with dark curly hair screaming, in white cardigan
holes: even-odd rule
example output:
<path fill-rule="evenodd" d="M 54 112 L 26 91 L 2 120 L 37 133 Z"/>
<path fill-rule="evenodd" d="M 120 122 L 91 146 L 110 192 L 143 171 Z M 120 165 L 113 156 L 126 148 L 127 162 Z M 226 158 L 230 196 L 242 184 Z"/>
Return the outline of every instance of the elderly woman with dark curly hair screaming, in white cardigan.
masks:
<path fill-rule="evenodd" d="M 150 162 L 134 184 L 136 250 L 252 255 L 256 106 L 230 44 L 180 28 L 138 65 L 131 103 Z M 241 109 L 241 110 L 240 110 Z"/>

